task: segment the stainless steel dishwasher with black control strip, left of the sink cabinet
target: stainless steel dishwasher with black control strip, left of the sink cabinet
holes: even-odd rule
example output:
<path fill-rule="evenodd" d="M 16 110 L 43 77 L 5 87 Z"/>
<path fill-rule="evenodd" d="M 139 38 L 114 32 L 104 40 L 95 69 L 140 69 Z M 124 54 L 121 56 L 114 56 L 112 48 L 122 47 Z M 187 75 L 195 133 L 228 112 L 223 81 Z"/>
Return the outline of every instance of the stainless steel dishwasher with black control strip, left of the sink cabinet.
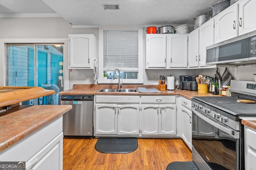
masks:
<path fill-rule="evenodd" d="M 93 95 L 62 95 L 61 105 L 72 105 L 63 115 L 64 136 L 93 136 Z"/>

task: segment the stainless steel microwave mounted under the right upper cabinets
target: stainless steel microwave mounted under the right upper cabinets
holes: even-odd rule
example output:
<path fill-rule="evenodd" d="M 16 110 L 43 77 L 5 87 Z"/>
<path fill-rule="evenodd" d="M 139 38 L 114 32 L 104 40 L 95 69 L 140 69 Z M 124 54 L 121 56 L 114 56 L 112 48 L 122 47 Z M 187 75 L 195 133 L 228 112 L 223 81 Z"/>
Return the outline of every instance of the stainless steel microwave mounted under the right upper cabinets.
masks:
<path fill-rule="evenodd" d="M 206 64 L 256 63 L 256 31 L 206 47 Z"/>

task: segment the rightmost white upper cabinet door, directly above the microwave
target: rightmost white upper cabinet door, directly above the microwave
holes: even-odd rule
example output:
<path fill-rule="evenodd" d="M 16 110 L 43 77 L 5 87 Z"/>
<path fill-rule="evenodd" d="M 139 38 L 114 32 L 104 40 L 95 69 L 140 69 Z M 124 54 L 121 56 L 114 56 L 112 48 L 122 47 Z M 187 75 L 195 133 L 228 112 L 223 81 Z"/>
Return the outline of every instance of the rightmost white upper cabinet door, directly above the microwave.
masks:
<path fill-rule="evenodd" d="M 256 30 L 255 0 L 239 1 L 239 35 Z"/>

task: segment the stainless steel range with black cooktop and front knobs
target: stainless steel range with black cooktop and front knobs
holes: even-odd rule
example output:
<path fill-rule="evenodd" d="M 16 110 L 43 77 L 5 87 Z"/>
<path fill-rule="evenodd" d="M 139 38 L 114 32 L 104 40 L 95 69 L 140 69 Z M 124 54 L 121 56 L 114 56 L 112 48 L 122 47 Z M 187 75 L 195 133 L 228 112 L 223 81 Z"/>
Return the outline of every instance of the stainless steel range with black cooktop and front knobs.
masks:
<path fill-rule="evenodd" d="M 232 97 L 192 98 L 192 159 L 200 170 L 244 169 L 244 126 L 256 116 L 256 82 L 231 80 Z"/>

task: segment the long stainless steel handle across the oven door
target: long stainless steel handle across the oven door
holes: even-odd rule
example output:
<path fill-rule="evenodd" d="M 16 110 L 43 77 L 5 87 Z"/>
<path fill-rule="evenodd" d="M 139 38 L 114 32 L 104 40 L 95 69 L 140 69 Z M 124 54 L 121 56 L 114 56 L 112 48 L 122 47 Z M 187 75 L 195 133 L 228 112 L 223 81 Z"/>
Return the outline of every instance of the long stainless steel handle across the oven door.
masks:
<path fill-rule="evenodd" d="M 210 125 L 213 125 L 213 126 L 215 126 L 216 128 L 218 128 L 218 129 L 220 129 L 220 130 L 222 130 L 222 131 L 228 133 L 230 136 L 234 137 L 235 139 L 239 139 L 239 135 L 240 135 L 239 132 L 234 131 L 234 130 L 228 128 L 228 127 L 224 127 L 224 126 L 222 126 L 222 125 L 220 125 L 220 124 L 218 124 L 218 123 L 216 123 L 216 122 L 214 122 L 214 121 L 208 119 L 208 117 L 205 117 L 205 116 L 204 116 L 204 115 L 208 116 L 207 114 L 205 114 L 205 113 L 199 113 L 194 107 L 192 107 L 192 108 L 194 109 L 193 112 L 194 112 L 198 117 L 200 117 L 201 119 L 203 119 L 204 121 L 206 121 L 206 122 L 209 123 Z"/>

